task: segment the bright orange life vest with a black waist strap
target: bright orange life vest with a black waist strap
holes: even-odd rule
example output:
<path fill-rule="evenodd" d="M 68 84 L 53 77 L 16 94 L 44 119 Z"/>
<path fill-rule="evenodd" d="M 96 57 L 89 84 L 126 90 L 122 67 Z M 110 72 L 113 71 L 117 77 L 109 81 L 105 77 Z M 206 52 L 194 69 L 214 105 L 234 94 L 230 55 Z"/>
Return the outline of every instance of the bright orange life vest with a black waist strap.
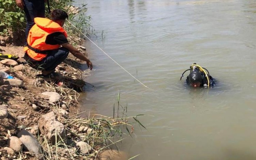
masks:
<path fill-rule="evenodd" d="M 41 61 L 47 56 L 47 50 L 55 50 L 60 47 L 60 45 L 46 44 L 47 35 L 54 32 L 61 32 L 67 38 L 67 32 L 58 23 L 48 18 L 36 17 L 34 21 L 36 24 L 29 30 L 27 38 L 28 46 L 24 47 L 24 52 L 27 52 L 32 59 Z"/>

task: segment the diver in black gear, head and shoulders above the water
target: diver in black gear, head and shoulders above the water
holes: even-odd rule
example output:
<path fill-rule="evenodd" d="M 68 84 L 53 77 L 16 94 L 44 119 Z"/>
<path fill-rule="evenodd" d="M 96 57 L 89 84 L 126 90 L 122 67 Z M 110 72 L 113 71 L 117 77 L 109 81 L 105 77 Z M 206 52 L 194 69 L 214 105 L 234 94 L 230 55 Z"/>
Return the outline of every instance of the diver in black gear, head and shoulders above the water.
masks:
<path fill-rule="evenodd" d="M 210 76 L 209 71 L 196 63 L 190 66 L 190 69 L 187 69 L 182 73 L 180 80 L 183 77 L 183 74 L 187 71 L 190 71 L 186 79 L 186 84 L 193 87 L 208 87 L 212 88 L 215 86 L 214 79 Z M 207 73 L 206 73 L 207 71 Z"/>

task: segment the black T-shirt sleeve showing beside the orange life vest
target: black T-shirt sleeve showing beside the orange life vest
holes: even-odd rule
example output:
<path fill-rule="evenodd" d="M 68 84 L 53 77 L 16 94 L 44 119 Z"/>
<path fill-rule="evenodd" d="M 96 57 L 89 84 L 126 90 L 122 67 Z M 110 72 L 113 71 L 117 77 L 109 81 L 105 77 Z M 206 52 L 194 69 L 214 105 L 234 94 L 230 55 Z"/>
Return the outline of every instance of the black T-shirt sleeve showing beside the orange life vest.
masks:
<path fill-rule="evenodd" d="M 68 40 L 61 32 L 54 32 L 47 35 L 45 43 L 49 45 L 61 45 L 63 43 L 67 43 Z"/>

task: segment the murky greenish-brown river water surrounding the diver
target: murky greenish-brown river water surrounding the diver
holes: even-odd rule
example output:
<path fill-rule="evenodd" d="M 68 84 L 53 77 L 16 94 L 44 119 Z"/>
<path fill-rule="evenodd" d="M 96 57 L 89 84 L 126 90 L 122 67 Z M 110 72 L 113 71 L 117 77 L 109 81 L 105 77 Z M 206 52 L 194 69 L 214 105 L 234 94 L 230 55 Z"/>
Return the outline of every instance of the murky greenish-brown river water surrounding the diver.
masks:
<path fill-rule="evenodd" d="M 255 0 L 87 0 L 94 71 L 82 111 L 113 115 L 117 93 L 128 115 L 144 114 L 120 150 L 135 159 L 256 159 Z M 82 3 L 82 1 L 77 1 Z M 103 33 L 103 34 L 102 34 Z M 184 87 L 197 64 L 217 79 L 212 89 Z M 116 103 L 117 104 L 117 103 Z"/>

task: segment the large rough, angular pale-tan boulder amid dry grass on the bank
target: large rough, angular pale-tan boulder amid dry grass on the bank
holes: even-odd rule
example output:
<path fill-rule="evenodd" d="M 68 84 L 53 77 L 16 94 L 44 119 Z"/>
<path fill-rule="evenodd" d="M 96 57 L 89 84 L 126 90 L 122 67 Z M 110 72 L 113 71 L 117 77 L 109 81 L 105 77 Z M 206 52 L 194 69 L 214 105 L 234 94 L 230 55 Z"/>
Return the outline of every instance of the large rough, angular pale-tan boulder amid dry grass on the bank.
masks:
<path fill-rule="evenodd" d="M 67 134 L 64 125 L 56 121 L 53 112 L 42 115 L 38 120 L 39 130 L 45 135 L 51 142 L 60 141 L 60 137 L 66 140 Z M 57 132 L 57 136 L 55 136 Z M 57 138 L 57 139 L 56 139 Z"/>

